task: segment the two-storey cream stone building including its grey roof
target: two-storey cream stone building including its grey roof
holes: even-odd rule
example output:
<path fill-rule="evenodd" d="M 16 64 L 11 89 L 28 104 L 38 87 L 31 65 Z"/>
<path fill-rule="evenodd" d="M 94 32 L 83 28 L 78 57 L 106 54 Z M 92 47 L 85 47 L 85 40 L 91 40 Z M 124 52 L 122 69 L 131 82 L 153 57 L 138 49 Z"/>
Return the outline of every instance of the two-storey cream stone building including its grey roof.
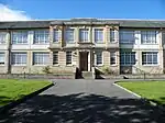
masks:
<path fill-rule="evenodd" d="M 164 21 L 70 19 L 0 22 L 0 72 L 164 72 Z"/>

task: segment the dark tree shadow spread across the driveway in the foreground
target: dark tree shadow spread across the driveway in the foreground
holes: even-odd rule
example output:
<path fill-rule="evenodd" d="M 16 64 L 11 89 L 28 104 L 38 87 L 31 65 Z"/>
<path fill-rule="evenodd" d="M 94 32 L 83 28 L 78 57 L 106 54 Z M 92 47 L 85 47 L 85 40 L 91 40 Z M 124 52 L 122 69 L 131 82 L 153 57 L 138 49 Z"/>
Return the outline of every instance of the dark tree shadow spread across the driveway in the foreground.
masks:
<path fill-rule="evenodd" d="M 165 114 L 135 99 L 97 94 L 37 96 L 0 114 L 0 122 L 164 123 Z"/>

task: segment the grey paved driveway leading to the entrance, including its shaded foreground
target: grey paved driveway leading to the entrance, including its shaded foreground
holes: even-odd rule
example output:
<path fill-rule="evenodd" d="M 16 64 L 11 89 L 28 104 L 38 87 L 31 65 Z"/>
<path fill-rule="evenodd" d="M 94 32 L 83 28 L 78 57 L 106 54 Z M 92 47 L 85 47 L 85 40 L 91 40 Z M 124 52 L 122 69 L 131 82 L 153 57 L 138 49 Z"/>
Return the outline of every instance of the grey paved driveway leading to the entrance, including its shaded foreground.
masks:
<path fill-rule="evenodd" d="M 54 80 L 55 86 L 0 114 L 7 123 L 165 123 L 165 115 L 112 80 Z"/>

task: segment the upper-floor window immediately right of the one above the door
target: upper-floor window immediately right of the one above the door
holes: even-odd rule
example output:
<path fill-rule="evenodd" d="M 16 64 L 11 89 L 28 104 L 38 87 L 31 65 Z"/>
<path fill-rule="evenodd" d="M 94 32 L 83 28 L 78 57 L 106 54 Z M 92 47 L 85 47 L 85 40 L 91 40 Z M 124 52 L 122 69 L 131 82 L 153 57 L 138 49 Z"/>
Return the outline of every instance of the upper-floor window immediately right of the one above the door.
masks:
<path fill-rule="evenodd" d="M 95 42 L 103 43 L 103 30 L 102 29 L 95 29 Z"/>

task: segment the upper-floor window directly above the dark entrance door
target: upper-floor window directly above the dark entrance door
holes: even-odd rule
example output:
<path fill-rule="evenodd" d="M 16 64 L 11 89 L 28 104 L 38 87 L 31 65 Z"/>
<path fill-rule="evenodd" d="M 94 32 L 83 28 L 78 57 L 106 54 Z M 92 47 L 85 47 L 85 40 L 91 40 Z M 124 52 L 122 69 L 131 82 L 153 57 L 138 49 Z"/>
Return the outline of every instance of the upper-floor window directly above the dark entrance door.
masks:
<path fill-rule="evenodd" d="M 88 29 L 79 30 L 79 41 L 80 42 L 89 42 L 89 30 Z"/>

